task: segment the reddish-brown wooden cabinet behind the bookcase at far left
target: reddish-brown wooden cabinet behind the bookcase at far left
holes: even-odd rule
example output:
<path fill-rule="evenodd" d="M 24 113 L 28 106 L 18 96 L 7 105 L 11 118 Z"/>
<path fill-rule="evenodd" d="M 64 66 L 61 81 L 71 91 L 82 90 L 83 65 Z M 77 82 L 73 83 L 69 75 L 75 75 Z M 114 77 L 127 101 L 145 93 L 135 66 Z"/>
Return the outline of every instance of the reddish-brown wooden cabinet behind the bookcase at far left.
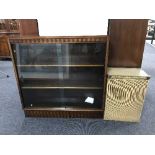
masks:
<path fill-rule="evenodd" d="M 11 58 L 7 37 L 39 36 L 36 19 L 0 19 L 0 59 Z"/>

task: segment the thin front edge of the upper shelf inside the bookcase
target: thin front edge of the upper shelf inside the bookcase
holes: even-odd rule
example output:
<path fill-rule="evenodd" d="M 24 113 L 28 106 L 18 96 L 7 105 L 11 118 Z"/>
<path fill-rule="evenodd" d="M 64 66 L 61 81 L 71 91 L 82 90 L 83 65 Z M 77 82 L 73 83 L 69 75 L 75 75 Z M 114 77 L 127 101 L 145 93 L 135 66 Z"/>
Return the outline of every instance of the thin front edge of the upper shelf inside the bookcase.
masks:
<path fill-rule="evenodd" d="M 18 67 L 104 67 L 104 65 L 17 65 Z"/>

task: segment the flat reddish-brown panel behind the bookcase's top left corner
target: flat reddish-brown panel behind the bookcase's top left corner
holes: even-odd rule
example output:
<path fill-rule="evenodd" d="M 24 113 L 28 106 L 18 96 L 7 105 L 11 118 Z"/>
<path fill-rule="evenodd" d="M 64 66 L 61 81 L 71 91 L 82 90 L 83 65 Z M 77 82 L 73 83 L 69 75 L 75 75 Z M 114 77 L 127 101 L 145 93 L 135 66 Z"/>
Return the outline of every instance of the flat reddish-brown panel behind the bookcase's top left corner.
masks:
<path fill-rule="evenodd" d="M 19 19 L 21 36 L 39 36 L 37 19 Z"/>

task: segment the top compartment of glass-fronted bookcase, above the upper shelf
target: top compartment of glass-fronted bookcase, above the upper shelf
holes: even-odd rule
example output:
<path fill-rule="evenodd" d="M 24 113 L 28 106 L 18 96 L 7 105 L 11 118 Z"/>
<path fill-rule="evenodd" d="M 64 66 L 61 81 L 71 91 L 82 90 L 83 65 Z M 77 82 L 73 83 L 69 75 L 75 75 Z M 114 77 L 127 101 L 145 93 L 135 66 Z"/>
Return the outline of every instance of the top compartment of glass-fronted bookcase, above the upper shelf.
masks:
<path fill-rule="evenodd" d="M 16 44 L 17 65 L 103 65 L 106 45 Z"/>

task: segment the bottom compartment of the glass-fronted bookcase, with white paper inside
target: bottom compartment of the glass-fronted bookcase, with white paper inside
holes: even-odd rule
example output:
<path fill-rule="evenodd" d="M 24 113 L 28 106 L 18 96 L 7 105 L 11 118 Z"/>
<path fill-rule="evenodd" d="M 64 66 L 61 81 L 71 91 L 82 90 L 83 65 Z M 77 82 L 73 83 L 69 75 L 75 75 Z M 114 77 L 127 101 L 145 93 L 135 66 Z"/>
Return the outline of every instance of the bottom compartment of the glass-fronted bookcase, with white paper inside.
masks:
<path fill-rule="evenodd" d="M 23 89 L 26 107 L 101 108 L 103 90 Z"/>

